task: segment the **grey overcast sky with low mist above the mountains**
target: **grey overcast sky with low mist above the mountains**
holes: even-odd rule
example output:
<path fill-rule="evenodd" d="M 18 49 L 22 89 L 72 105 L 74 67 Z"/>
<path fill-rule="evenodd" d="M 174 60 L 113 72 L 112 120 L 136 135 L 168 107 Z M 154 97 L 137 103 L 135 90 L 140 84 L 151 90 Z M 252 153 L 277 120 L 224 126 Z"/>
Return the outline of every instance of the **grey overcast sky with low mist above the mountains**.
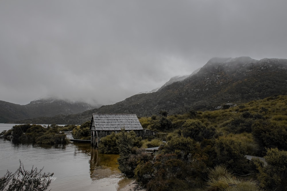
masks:
<path fill-rule="evenodd" d="M 109 104 L 212 57 L 287 58 L 286 0 L 1 0 L 0 100 Z"/>

